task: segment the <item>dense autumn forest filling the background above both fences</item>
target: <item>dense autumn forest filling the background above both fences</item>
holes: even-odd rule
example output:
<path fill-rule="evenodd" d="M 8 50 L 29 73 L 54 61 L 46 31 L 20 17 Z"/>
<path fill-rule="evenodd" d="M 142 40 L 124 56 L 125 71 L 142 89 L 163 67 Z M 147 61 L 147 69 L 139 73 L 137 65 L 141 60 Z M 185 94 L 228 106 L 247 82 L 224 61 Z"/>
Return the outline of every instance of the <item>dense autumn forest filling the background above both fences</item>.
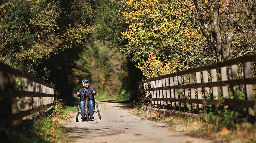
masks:
<path fill-rule="evenodd" d="M 0 2 L 0 62 L 68 99 L 84 78 L 107 98 L 136 81 L 255 54 L 255 1 Z"/>

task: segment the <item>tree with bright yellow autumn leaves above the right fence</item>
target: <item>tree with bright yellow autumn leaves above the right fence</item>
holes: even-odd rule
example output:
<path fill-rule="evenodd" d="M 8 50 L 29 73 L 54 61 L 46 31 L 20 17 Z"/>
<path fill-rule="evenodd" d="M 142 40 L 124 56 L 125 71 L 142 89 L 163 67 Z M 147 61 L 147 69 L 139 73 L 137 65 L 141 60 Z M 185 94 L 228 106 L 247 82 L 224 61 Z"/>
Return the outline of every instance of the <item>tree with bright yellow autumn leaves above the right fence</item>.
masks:
<path fill-rule="evenodd" d="M 215 60 L 211 54 L 202 54 L 208 48 L 196 24 L 190 23 L 195 16 L 191 1 L 126 0 L 126 3 L 128 10 L 122 14 L 129 26 L 122 35 L 128 42 L 122 50 L 138 62 L 138 68 L 146 77 Z M 152 68 L 154 63 L 161 64 L 159 68 Z"/>

